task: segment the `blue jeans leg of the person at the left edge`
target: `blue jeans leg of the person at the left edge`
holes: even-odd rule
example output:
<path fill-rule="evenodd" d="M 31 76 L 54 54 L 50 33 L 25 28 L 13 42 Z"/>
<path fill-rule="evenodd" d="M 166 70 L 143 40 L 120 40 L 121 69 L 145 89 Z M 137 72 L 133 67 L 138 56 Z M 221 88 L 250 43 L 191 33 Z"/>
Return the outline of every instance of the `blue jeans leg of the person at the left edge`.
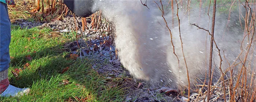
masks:
<path fill-rule="evenodd" d="M 9 68 L 11 42 L 11 21 L 7 4 L 0 2 L 0 72 Z"/>

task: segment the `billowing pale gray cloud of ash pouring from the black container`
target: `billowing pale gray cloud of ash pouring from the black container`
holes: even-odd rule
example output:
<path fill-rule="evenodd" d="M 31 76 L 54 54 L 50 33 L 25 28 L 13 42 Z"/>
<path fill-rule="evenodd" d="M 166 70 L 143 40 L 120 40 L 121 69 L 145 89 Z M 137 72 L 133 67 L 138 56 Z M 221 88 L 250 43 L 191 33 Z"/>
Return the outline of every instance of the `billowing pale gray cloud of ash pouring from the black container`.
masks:
<path fill-rule="evenodd" d="M 159 0 L 155 1 L 161 7 Z M 162 1 L 163 5 L 166 5 L 169 0 Z M 178 64 L 178 60 L 173 54 L 170 33 L 163 20 L 162 12 L 153 0 L 147 0 L 147 6 L 150 10 L 142 5 L 146 0 L 142 0 L 142 3 L 140 0 L 98 0 L 94 2 L 95 7 L 93 8 L 100 9 L 105 17 L 113 21 L 116 28 L 115 44 L 118 56 L 131 75 L 136 79 L 147 80 L 153 84 L 165 84 L 172 88 L 188 85 L 187 70 L 181 50 L 175 1 L 174 26 L 172 27 L 171 9 L 165 9 L 164 17 L 171 29 L 175 53 L 180 60 L 180 64 Z M 209 19 L 207 15 L 208 7 L 200 12 L 199 7 L 192 7 L 189 15 L 188 12 L 185 14 L 185 8 L 179 8 L 183 49 L 191 85 L 194 85 L 195 80 L 204 81 L 205 72 L 207 71 L 208 73 L 210 36 L 206 31 L 198 30 L 197 27 L 191 26 L 190 23 L 196 23 L 211 32 L 212 11 L 210 9 Z M 217 11 L 216 14 L 214 38 L 221 50 L 223 71 L 229 67 L 227 60 L 230 64 L 233 63 L 241 52 L 240 46 L 244 33 L 241 29 L 238 15 L 239 12 L 234 12 L 231 15 L 229 25 L 233 25 L 233 27 L 229 27 L 230 30 L 226 30 L 223 36 L 228 13 L 224 15 Z M 248 42 L 245 41 L 244 43 L 243 47 L 245 49 L 245 45 Z M 223 50 L 227 60 L 223 58 Z M 213 81 L 216 82 L 220 76 L 220 59 L 215 46 L 213 52 Z M 240 62 L 239 59 L 236 61 L 237 63 Z M 250 63 L 253 63 L 252 65 L 255 67 L 255 62 L 252 61 Z"/>

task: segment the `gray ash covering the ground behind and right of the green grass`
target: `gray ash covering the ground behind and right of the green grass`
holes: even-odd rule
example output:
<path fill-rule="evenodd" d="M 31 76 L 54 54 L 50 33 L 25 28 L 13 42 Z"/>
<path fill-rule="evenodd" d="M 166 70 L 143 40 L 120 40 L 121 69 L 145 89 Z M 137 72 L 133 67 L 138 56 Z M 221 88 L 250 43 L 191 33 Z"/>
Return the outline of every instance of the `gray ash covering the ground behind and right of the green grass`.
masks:
<path fill-rule="evenodd" d="M 80 17 L 76 17 L 76 19 L 79 21 L 79 23 L 77 22 L 77 27 L 80 28 L 79 25 L 82 25 L 82 20 Z M 87 23 L 89 25 L 90 20 Z M 46 27 L 58 32 L 71 32 L 72 29 L 76 28 L 72 15 L 67 15 L 63 20 L 51 23 L 31 22 L 20 19 L 13 24 L 27 29 Z M 78 34 L 80 34 L 79 31 Z M 180 102 L 173 93 L 171 93 L 172 95 L 163 94 L 168 92 L 169 88 L 153 87 L 147 82 L 133 79 L 129 71 L 116 58 L 115 46 L 109 43 L 102 44 L 103 38 L 99 32 L 92 31 L 90 35 L 86 32 L 83 37 L 83 39 L 79 38 L 78 43 L 76 41 L 65 43 L 63 45 L 65 51 L 70 52 L 70 54 L 78 54 L 79 59 L 89 58 L 92 60 L 92 68 L 99 74 L 106 76 L 106 79 L 124 78 L 121 86 L 127 92 L 124 95 L 125 102 Z M 104 40 L 109 39 L 111 39 L 110 36 L 104 37 Z M 78 44 L 81 49 L 79 49 Z M 142 83 L 142 85 L 138 88 L 139 83 Z"/>

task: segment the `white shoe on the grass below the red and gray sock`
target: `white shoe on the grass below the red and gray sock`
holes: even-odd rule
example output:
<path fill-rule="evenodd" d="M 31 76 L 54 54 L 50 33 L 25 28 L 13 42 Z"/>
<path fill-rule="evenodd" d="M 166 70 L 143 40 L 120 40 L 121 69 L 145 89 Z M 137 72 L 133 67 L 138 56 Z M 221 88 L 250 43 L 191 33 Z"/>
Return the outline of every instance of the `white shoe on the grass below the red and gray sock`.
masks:
<path fill-rule="evenodd" d="M 12 85 L 9 85 L 5 91 L 0 94 L 0 97 L 20 97 L 22 95 L 27 95 L 30 92 L 29 88 L 18 88 Z"/>

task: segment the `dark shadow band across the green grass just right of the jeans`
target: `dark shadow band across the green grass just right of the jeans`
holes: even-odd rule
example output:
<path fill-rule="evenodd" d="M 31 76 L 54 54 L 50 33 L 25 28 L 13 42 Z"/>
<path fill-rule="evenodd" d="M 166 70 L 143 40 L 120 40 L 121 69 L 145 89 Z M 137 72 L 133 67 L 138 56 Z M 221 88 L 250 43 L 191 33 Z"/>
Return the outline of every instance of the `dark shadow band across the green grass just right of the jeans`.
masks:
<path fill-rule="evenodd" d="M 61 56 L 65 54 L 68 53 L 60 49 L 60 46 L 54 46 L 12 58 L 11 68 L 21 68 L 23 70 L 18 77 L 15 77 L 15 75 L 10 77 L 9 75 L 10 83 L 17 87 L 30 87 L 34 81 L 45 78 L 46 75 L 61 74 L 64 68 L 75 63 L 75 60 L 67 60 Z M 31 61 L 27 59 L 28 55 L 30 55 Z M 29 63 L 28 67 L 25 67 L 26 63 Z"/>

